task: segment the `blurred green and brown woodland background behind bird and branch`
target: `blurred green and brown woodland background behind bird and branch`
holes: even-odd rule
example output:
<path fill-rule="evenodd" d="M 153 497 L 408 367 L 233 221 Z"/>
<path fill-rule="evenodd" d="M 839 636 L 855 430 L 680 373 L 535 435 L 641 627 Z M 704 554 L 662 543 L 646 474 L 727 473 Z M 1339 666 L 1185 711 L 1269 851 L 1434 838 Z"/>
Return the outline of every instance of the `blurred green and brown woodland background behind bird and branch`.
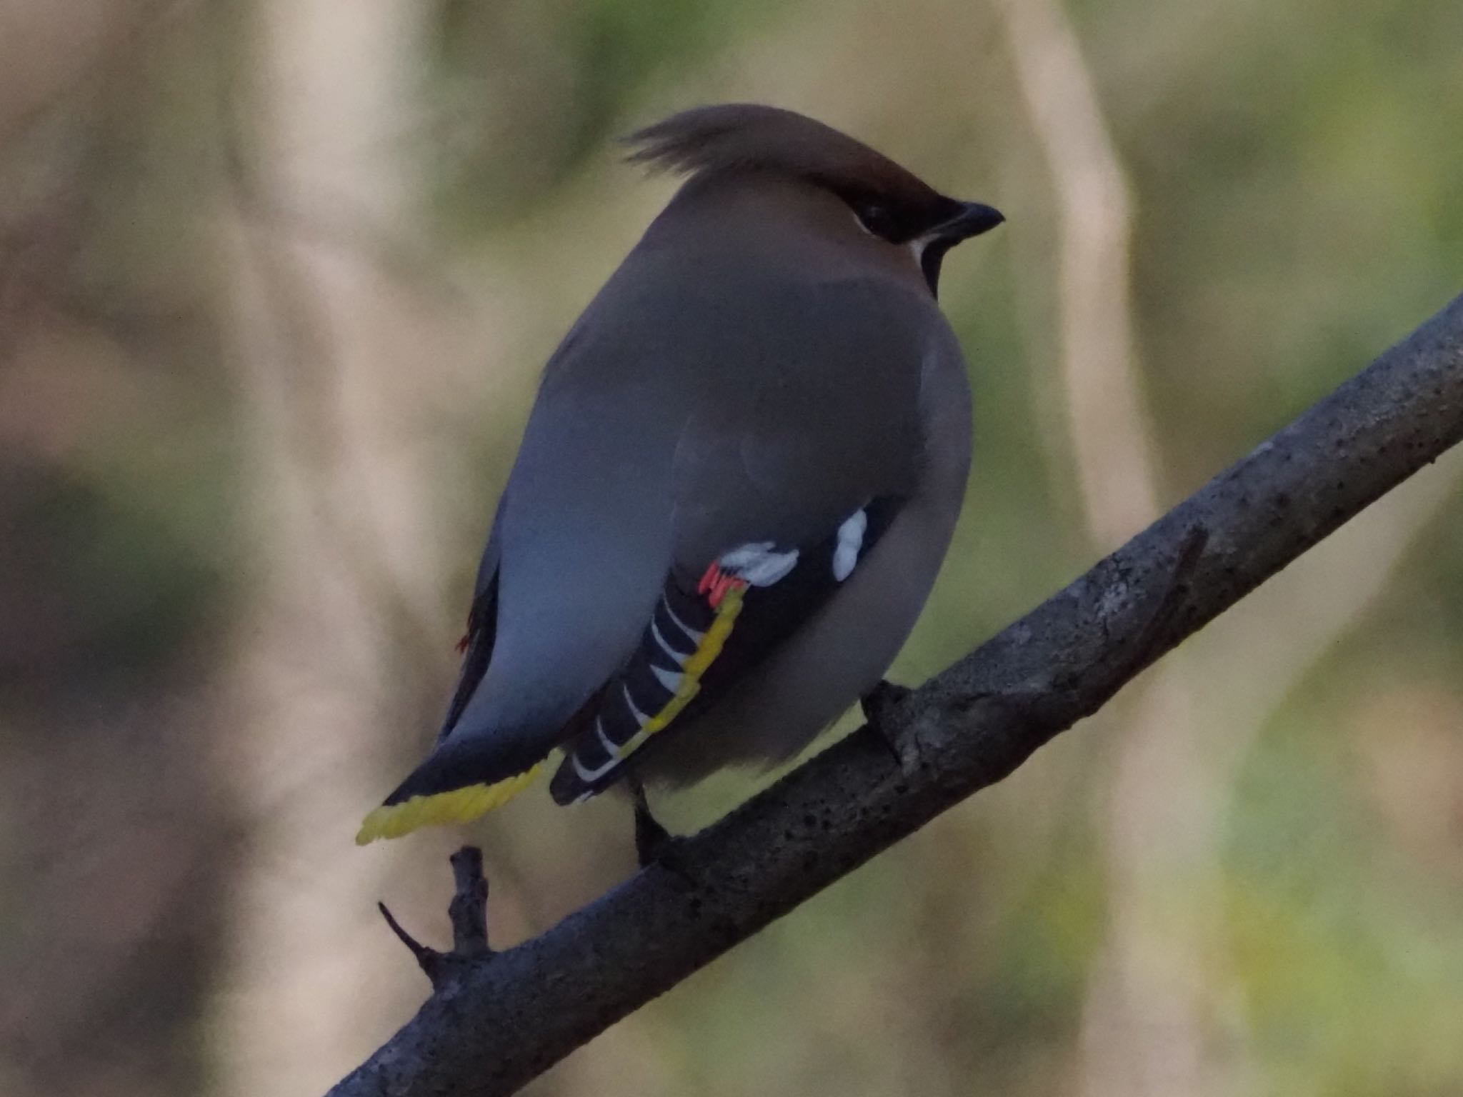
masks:
<path fill-rule="evenodd" d="M 670 195 L 614 135 L 775 102 L 1007 212 L 945 266 L 979 437 L 916 682 L 1463 288 L 1460 42 L 1456 0 L 0 6 L 0 1093 L 322 1093 L 426 992 L 375 900 L 442 939 L 471 837 L 511 943 L 632 870 L 612 797 L 351 844 Z M 1463 1091 L 1460 477 L 530 1091 Z"/>

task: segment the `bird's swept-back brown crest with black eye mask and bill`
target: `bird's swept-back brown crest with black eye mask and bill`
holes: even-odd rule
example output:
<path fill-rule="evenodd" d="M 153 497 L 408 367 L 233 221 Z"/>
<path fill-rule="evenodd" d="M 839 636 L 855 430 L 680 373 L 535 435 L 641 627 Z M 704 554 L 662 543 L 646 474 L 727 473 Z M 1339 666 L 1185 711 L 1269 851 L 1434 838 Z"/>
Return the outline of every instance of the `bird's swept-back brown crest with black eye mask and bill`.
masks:
<path fill-rule="evenodd" d="M 831 126 L 778 107 L 730 102 L 698 107 L 632 133 L 629 159 L 689 176 L 771 173 L 837 195 L 872 235 L 914 249 L 935 293 L 945 253 L 1005 218 L 979 202 L 957 202 Z"/>

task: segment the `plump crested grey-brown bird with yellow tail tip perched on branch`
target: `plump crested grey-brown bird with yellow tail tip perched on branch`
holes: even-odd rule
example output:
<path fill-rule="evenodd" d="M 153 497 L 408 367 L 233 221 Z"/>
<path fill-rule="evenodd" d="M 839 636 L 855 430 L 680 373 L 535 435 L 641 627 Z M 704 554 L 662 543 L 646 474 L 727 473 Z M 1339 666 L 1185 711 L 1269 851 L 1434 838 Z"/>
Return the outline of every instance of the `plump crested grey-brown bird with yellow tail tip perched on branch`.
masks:
<path fill-rule="evenodd" d="M 644 781 L 786 761 L 884 685 L 948 551 L 971 396 L 941 265 L 1001 212 L 778 107 L 626 140 L 680 187 L 544 367 L 436 746 L 360 844 L 552 766 L 556 803 L 623 783 L 639 812 Z"/>

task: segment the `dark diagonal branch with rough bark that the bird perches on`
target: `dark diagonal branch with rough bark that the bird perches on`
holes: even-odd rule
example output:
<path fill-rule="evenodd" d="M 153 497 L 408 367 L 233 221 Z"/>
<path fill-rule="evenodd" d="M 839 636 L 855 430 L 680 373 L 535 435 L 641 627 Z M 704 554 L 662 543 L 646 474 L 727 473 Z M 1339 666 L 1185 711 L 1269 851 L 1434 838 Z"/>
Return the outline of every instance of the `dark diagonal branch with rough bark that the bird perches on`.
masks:
<path fill-rule="evenodd" d="M 933 816 L 1463 437 L 1463 297 L 1090 572 L 547 933 L 456 967 L 334 1097 L 508 1094 Z M 1238 685 L 1238 683 L 1236 683 Z M 891 749 L 892 744 L 892 749 Z"/>

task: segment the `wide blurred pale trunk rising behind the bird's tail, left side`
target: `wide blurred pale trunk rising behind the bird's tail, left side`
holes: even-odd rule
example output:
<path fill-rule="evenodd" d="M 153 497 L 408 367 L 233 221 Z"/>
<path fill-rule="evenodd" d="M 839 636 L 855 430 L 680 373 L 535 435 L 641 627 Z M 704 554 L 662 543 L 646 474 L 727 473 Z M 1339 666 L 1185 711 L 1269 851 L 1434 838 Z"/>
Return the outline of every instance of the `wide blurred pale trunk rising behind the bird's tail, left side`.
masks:
<path fill-rule="evenodd" d="M 449 632 L 411 434 L 430 320 L 372 255 L 268 216 L 338 196 L 373 224 L 402 221 L 413 178 L 382 154 L 414 101 L 423 10 L 263 0 L 257 19 L 240 89 L 257 155 L 231 142 L 224 214 L 259 535 L 230 765 L 250 834 L 219 998 L 225 1094 L 323 1087 L 396 1003 L 394 971 L 358 958 L 408 851 L 342 851 L 391 746 L 417 728 L 394 625 Z"/>

